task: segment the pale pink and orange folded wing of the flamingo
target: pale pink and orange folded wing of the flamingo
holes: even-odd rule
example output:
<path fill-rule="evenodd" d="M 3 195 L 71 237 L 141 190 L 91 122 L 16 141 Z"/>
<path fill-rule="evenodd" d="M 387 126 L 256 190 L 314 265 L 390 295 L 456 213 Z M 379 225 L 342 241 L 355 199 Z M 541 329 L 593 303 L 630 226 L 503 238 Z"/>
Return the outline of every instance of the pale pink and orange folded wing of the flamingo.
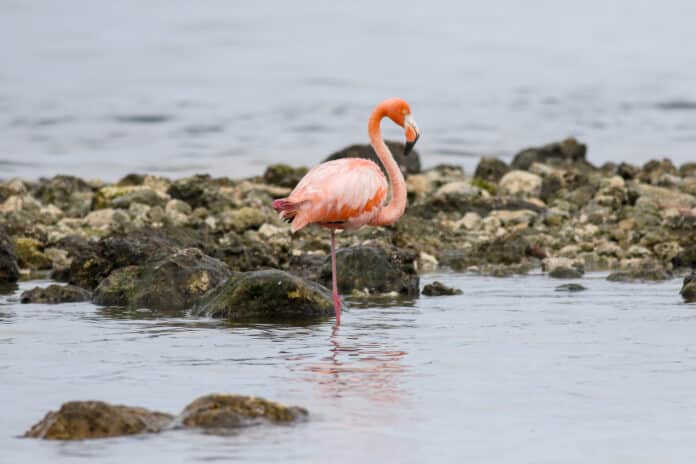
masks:
<path fill-rule="evenodd" d="M 287 200 L 295 205 L 293 232 L 314 222 L 356 228 L 379 212 L 387 179 L 373 161 L 344 158 L 312 168 Z"/>

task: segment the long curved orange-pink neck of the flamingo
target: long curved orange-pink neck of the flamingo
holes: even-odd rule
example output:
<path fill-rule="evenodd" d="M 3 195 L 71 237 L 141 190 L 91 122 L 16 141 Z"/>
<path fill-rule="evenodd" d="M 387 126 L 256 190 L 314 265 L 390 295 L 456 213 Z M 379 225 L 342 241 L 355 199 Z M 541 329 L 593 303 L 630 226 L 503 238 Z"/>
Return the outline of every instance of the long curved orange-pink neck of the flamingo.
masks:
<path fill-rule="evenodd" d="M 396 222 L 406 209 L 406 182 L 401 173 L 399 165 L 394 161 L 389 148 L 382 139 L 380 122 L 386 116 L 384 105 L 378 105 L 372 114 L 367 125 L 367 132 L 370 134 L 370 143 L 380 161 L 384 165 L 392 187 L 391 200 L 385 205 L 379 214 L 370 222 L 372 225 L 386 226 Z"/>

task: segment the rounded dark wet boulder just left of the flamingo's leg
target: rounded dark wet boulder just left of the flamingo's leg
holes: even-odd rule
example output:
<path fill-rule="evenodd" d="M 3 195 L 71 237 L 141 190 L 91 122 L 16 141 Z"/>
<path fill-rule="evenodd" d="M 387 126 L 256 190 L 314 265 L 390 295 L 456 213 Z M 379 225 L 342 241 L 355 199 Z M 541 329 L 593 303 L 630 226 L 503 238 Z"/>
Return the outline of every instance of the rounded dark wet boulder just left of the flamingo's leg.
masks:
<path fill-rule="evenodd" d="M 334 308 L 325 287 L 269 269 L 231 277 L 194 313 L 231 321 L 304 321 L 332 316 Z"/>

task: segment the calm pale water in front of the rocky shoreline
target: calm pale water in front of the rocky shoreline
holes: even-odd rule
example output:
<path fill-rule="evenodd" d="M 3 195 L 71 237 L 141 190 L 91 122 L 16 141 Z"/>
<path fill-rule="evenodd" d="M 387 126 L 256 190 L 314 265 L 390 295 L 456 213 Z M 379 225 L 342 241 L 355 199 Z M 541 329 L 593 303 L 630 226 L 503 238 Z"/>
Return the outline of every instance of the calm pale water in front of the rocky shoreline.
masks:
<path fill-rule="evenodd" d="M 354 308 L 335 337 L 329 322 L 229 327 L 4 297 L 0 461 L 693 462 L 695 308 L 676 279 L 604 277 L 568 294 L 541 275 L 429 275 L 464 294 Z M 311 418 L 227 437 L 16 437 L 68 400 L 177 412 L 211 392 Z"/>

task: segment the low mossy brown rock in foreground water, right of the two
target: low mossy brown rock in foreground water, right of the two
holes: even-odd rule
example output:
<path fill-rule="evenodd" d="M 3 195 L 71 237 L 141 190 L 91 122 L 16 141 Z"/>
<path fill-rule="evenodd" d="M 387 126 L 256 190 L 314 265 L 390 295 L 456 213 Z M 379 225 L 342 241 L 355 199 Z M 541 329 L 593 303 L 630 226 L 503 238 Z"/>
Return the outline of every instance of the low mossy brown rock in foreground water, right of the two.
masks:
<path fill-rule="evenodd" d="M 225 429 L 263 422 L 288 424 L 306 418 L 297 406 L 284 406 L 263 398 L 241 395 L 207 395 L 186 406 L 177 423 L 183 427 Z"/>

